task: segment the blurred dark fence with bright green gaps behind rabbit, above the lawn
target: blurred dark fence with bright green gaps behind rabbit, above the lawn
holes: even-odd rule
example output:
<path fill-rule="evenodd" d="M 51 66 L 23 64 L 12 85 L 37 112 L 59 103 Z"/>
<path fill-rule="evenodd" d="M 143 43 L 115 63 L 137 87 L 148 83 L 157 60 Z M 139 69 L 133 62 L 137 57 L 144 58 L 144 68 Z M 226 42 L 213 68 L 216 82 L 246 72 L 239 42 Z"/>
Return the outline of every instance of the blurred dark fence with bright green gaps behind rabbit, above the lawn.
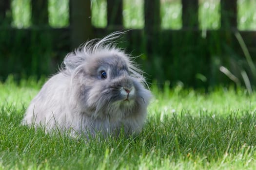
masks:
<path fill-rule="evenodd" d="M 256 85 L 256 0 L 0 0 L 0 81 L 56 73 L 81 43 L 126 31 L 149 82 Z"/>

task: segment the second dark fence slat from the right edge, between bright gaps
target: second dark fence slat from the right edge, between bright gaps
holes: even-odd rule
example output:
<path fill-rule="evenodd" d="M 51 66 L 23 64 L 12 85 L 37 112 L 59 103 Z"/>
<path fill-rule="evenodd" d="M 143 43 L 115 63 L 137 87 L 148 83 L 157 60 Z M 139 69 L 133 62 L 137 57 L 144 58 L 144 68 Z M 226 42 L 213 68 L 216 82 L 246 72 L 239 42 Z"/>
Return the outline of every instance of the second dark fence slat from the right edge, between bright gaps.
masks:
<path fill-rule="evenodd" d="M 198 28 L 198 0 L 182 0 L 182 27 Z"/>

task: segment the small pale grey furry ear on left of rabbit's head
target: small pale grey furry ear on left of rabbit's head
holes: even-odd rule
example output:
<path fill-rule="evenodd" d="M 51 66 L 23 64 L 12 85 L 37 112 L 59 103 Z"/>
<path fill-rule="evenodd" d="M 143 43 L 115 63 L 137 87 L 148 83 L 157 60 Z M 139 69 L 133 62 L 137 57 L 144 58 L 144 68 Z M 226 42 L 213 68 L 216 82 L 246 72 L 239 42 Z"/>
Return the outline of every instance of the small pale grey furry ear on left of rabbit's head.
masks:
<path fill-rule="evenodd" d="M 79 67 L 85 60 L 85 57 L 83 55 L 79 55 L 76 52 L 69 53 L 64 58 L 64 66 L 66 69 L 74 70 L 77 67 Z"/>

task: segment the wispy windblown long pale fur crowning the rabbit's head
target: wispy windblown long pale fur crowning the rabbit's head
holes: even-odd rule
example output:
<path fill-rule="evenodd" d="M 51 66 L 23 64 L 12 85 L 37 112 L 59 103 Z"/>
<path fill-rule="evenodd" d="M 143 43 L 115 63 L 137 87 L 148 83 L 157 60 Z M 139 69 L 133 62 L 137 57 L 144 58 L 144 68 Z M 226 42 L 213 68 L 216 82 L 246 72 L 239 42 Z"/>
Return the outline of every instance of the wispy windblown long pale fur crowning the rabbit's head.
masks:
<path fill-rule="evenodd" d="M 77 72 L 79 72 L 82 64 L 86 60 L 89 60 L 93 56 L 97 56 L 97 54 L 102 54 L 106 52 L 113 54 L 121 53 L 122 55 L 127 56 L 125 59 L 132 76 L 138 78 L 140 82 L 143 83 L 143 85 L 148 87 L 148 84 L 145 78 L 143 77 L 143 74 L 145 73 L 138 67 L 138 65 L 133 60 L 129 59 L 135 59 L 137 57 L 127 55 L 123 50 L 116 47 L 115 40 L 117 40 L 124 33 L 125 32 L 114 32 L 112 34 L 105 36 L 102 39 L 92 39 L 90 41 L 87 41 L 78 49 L 66 55 L 60 71 L 65 71 L 66 73 L 71 75 L 73 74 L 74 76 Z"/>

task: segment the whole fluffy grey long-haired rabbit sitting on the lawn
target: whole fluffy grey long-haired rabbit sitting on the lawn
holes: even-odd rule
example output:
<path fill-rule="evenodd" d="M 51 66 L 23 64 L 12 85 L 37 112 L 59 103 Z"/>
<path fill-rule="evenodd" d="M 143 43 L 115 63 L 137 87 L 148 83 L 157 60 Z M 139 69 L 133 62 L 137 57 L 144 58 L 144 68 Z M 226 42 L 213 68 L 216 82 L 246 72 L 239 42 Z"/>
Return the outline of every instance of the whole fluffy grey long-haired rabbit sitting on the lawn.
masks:
<path fill-rule="evenodd" d="M 139 134 L 152 94 L 143 72 L 113 40 L 91 40 L 68 53 L 28 106 L 23 125 L 74 135 Z"/>

